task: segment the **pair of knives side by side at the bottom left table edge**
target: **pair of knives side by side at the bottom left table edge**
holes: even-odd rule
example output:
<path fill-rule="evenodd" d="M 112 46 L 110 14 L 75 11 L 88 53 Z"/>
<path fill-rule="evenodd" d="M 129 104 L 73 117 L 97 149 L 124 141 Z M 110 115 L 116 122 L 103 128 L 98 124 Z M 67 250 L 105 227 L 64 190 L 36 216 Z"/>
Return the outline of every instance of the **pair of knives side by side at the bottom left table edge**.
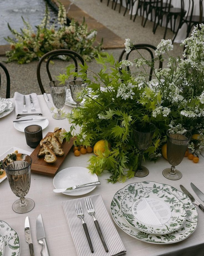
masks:
<path fill-rule="evenodd" d="M 38 215 L 37 221 L 36 221 L 36 236 L 37 236 L 38 243 L 42 245 L 41 256 L 49 256 L 41 214 Z M 25 241 L 29 244 L 30 256 L 34 256 L 34 248 L 32 243 L 30 223 L 29 223 L 28 216 L 25 218 Z"/>

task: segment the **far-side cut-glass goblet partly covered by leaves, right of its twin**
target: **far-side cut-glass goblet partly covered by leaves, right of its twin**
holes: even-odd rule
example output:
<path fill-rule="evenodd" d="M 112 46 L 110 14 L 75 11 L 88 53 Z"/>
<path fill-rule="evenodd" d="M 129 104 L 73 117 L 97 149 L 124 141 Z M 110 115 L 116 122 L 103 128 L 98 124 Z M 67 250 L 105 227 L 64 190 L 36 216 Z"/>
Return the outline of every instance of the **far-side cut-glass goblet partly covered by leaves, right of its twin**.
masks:
<path fill-rule="evenodd" d="M 73 80 L 69 82 L 70 92 L 72 95 L 72 99 L 76 102 L 77 107 L 80 106 L 81 97 L 79 97 L 79 93 L 86 87 L 86 83 L 82 80 Z"/>

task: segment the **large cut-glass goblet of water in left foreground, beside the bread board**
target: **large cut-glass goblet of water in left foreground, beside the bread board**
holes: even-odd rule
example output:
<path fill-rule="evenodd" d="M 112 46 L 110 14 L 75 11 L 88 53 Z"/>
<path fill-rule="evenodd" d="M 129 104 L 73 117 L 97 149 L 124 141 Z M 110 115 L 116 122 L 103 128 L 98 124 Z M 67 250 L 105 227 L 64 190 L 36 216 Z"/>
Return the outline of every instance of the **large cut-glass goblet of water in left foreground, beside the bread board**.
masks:
<path fill-rule="evenodd" d="M 31 163 L 32 158 L 26 154 L 12 154 L 4 158 L 2 163 L 12 192 L 20 197 L 12 205 L 17 213 L 26 213 L 35 205 L 32 199 L 25 198 L 30 189 Z"/>

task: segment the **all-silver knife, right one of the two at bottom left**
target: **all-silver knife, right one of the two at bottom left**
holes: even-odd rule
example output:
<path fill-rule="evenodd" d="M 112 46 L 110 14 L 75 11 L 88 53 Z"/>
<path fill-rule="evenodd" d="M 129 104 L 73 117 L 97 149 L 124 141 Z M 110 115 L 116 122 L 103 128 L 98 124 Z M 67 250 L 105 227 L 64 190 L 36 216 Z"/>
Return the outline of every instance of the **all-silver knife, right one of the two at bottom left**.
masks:
<path fill-rule="evenodd" d="M 45 240 L 45 230 L 43 227 L 43 222 L 42 222 L 42 215 L 39 214 L 36 220 L 36 236 L 37 236 L 37 241 L 40 245 L 42 245 L 41 249 L 41 256 L 49 256 L 49 251 L 47 247 L 47 243 Z"/>

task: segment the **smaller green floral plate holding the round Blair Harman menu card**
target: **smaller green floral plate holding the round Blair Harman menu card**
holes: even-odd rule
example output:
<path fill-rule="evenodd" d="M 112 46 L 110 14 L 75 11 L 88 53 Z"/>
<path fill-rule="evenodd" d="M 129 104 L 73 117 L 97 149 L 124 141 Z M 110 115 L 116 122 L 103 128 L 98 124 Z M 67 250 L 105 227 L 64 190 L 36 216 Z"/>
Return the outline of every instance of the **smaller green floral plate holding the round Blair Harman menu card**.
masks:
<path fill-rule="evenodd" d="M 121 213 L 129 224 L 151 234 L 168 234 L 183 226 L 187 213 L 183 203 L 170 192 L 139 188 L 121 201 Z"/>

